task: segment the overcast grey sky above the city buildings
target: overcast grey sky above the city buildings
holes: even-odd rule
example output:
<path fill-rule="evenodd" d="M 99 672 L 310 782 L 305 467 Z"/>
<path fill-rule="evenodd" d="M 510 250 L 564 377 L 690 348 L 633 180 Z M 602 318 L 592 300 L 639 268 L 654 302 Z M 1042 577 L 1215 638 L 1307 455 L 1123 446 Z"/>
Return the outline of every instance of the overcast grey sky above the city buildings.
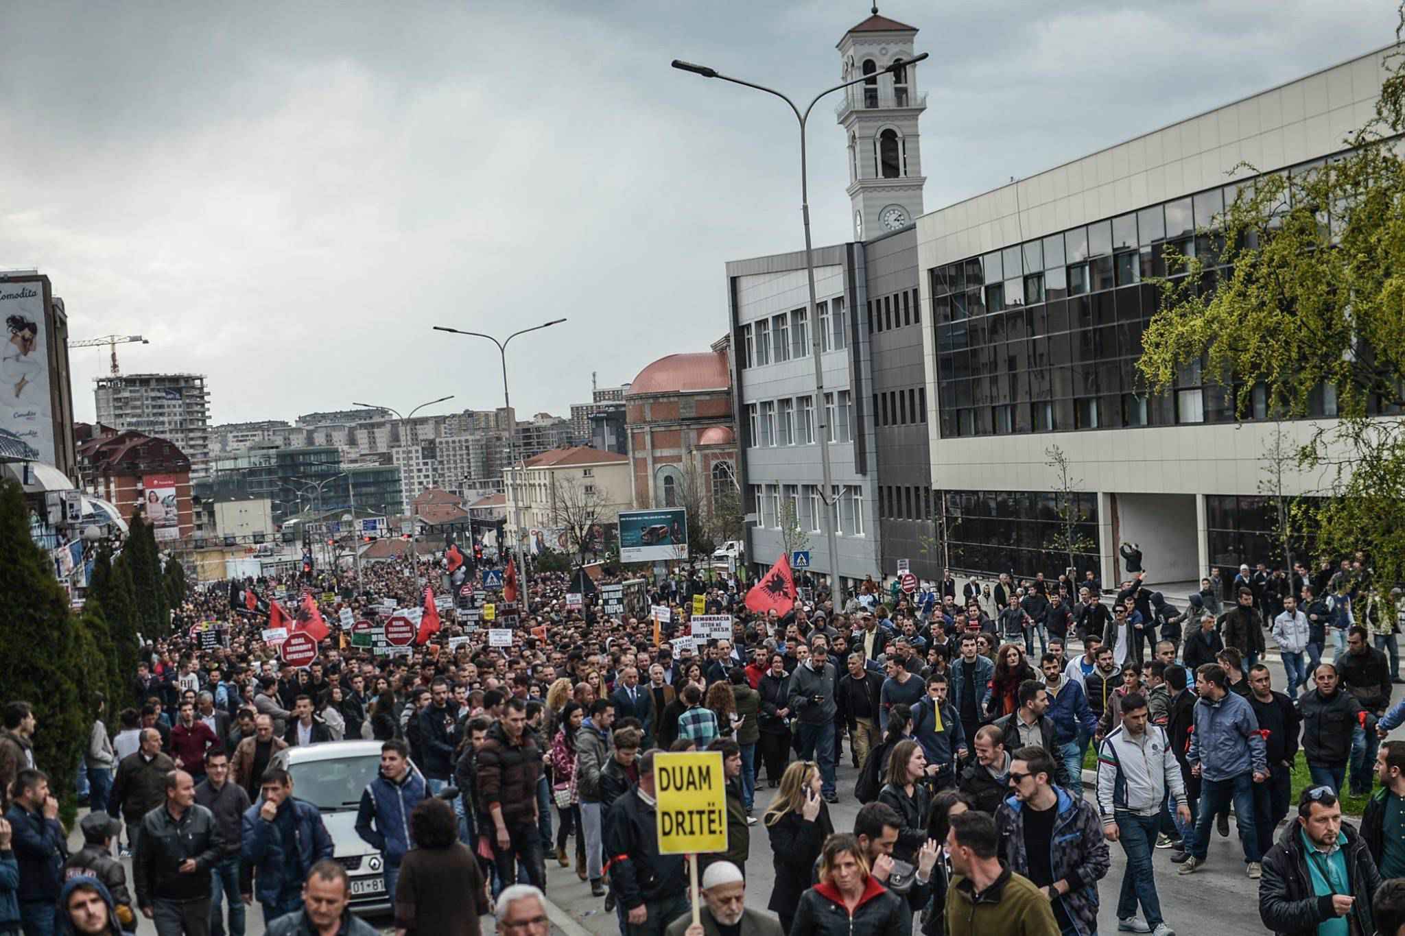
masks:
<path fill-rule="evenodd" d="M 353 400 L 568 415 L 726 324 L 724 262 L 802 244 L 780 101 L 868 3 L 55 3 L 0 11 L 0 269 L 37 267 L 126 372 L 208 375 L 215 422 Z M 1392 0 L 902 0 L 927 210 L 1392 39 Z M 844 139 L 809 133 L 816 244 Z M 492 356 L 489 356 L 492 352 Z M 73 352 L 93 417 L 107 351 Z"/>

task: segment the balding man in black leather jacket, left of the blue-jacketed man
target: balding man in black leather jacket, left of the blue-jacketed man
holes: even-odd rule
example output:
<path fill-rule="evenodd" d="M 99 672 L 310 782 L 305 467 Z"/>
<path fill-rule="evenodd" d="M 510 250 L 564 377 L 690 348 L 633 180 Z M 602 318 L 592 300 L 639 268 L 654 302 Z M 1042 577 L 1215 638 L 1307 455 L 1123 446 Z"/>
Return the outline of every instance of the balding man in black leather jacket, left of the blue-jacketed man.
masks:
<path fill-rule="evenodd" d="M 166 803 L 142 817 L 132 857 L 136 905 L 157 932 L 207 930 L 211 869 L 223 849 L 215 815 L 195 803 L 195 782 L 171 770 Z"/>

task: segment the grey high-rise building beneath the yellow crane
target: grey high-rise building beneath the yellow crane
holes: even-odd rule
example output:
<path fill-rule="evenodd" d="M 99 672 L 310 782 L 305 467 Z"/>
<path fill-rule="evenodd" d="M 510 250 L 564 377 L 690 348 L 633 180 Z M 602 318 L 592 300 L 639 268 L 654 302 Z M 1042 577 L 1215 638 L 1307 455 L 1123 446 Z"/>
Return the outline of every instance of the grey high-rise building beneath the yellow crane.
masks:
<path fill-rule="evenodd" d="M 192 480 L 209 477 L 209 390 L 200 373 L 97 377 L 97 421 L 173 442 Z"/>

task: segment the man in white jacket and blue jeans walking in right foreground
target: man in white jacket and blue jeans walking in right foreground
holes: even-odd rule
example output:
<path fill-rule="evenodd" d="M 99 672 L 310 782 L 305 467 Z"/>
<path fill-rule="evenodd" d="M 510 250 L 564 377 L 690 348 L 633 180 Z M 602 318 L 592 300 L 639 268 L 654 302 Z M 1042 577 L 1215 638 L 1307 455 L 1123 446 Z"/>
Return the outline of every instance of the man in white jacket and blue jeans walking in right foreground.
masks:
<path fill-rule="evenodd" d="M 1097 811 L 1103 817 L 1103 835 L 1109 842 L 1121 842 L 1127 855 L 1117 900 L 1117 928 L 1173 936 L 1175 930 L 1161 915 L 1151 855 L 1168 790 L 1176 803 L 1176 814 L 1187 825 L 1190 805 L 1170 740 L 1146 716 L 1146 696 L 1139 692 L 1123 696 L 1123 724 L 1097 748 Z M 1146 918 L 1145 925 L 1137 921 L 1138 902 Z"/>

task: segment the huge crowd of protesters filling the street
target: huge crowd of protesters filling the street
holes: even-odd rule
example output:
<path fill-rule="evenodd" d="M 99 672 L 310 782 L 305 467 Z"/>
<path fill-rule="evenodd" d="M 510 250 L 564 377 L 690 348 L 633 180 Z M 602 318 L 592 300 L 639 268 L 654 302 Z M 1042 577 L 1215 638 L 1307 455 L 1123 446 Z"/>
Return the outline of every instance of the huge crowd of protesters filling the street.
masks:
<path fill-rule="evenodd" d="M 457 595 L 481 570 L 451 551 L 430 578 Z M 520 619 L 504 647 L 448 609 L 426 626 L 424 571 L 192 594 L 174 634 L 143 647 L 129 697 L 94 713 L 73 855 L 34 763 L 32 710 L 8 700 L 0 935 L 131 932 L 145 916 L 163 936 L 242 936 L 253 900 L 271 933 L 374 932 L 347 909 L 318 808 L 271 766 L 341 740 L 381 742 L 355 831 L 382 856 L 405 933 L 476 933 L 495 898 L 499 926 L 544 932 L 556 862 L 639 936 L 743 921 L 795 936 L 1087 936 L 1117 845 L 1118 929 L 1166 936 L 1155 850 L 1196 873 L 1231 805 L 1267 928 L 1395 933 L 1405 912 L 1405 742 L 1381 742 L 1405 720 L 1391 707 L 1401 601 L 1363 557 L 1213 574 L 1180 609 L 1141 575 L 1104 591 L 1089 573 L 961 589 L 948 574 L 917 594 L 867 580 L 833 596 L 802 580 L 805 602 L 766 610 L 735 578 L 680 573 L 646 584 L 645 606 L 672 609 L 663 624 L 638 606 L 604 613 L 608 578 L 538 574 L 523 589 L 509 567 L 492 595 Z M 278 602 L 295 627 L 326 629 L 305 668 L 263 640 Z M 340 624 L 343 609 L 384 620 L 384 602 L 424 609 L 406 653 Z M 694 608 L 732 615 L 731 639 L 691 640 Z M 202 648 L 205 622 L 221 640 Z M 1286 692 L 1263 662 L 1270 640 Z M 836 777 L 846 748 L 851 791 Z M 728 849 L 700 856 L 702 928 L 684 857 L 659 850 L 660 751 L 724 763 Z M 1300 752 L 1312 783 L 1293 801 Z M 1346 791 L 1371 794 L 1360 828 L 1342 822 Z M 830 821 L 840 796 L 863 803 L 853 829 Z M 743 905 L 753 831 L 770 839 L 778 925 Z"/>

